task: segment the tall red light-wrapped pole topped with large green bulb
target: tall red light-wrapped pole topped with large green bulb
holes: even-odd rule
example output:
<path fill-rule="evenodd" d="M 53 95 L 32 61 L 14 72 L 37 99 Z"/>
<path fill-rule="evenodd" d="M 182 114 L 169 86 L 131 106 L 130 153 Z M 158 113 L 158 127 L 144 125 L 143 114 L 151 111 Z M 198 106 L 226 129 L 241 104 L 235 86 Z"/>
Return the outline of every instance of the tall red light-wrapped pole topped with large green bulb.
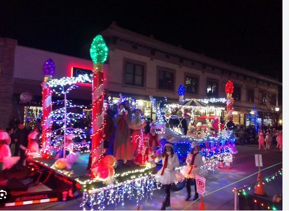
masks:
<path fill-rule="evenodd" d="M 103 157 L 103 72 L 102 66 L 107 58 L 108 48 L 101 35 L 97 35 L 90 47 L 90 57 L 93 61 L 92 80 L 92 145 L 90 168 L 94 168 Z"/>

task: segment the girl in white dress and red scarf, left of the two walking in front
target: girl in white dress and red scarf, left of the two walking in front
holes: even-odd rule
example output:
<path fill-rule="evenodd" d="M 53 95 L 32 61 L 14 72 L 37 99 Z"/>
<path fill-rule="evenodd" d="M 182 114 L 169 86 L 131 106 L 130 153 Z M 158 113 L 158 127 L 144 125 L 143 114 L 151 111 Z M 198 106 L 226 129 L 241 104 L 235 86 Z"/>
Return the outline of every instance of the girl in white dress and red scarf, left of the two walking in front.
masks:
<path fill-rule="evenodd" d="M 171 206 L 170 189 L 172 183 L 183 180 L 184 176 L 175 170 L 175 168 L 179 167 L 180 162 L 178 155 L 173 150 L 172 143 L 167 142 L 165 144 L 163 154 L 157 154 L 155 162 L 158 163 L 161 159 L 163 167 L 156 174 L 156 180 L 165 186 L 166 197 L 163 201 L 161 210 L 166 210 L 166 207 Z"/>

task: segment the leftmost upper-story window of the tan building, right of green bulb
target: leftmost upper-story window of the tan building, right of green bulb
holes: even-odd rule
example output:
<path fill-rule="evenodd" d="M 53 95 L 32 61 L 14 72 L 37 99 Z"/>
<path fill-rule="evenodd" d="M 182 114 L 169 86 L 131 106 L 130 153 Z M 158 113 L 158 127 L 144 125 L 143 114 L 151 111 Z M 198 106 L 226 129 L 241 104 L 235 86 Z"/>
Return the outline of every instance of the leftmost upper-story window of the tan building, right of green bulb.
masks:
<path fill-rule="evenodd" d="M 126 62 L 125 84 L 143 86 L 143 66 Z"/>

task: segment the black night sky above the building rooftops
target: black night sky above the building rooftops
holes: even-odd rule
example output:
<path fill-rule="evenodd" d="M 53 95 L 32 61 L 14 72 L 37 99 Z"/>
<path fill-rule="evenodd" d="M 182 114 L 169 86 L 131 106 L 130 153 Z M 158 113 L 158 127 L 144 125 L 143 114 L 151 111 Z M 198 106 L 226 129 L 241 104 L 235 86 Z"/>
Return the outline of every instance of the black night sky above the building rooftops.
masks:
<path fill-rule="evenodd" d="M 183 3 L 182 3 L 183 2 Z M 186 3 L 188 2 L 188 3 Z M 193 3 L 189 3 L 193 2 Z M 282 2 L 2 1 L 0 37 L 89 58 L 90 43 L 112 21 L 184 49 L 282 77 Z"/>

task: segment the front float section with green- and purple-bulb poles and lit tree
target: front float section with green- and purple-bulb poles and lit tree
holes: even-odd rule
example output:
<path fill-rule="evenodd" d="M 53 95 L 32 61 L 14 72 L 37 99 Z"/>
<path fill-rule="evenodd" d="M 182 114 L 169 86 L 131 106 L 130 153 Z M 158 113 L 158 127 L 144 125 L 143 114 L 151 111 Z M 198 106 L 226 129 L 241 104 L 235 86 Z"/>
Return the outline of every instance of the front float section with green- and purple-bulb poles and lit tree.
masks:
<path fill-rule="evenodd" d="M 140 200 L 152 198 L 153 191 L 161 188 L 155 182 L 153 175 L 156 169 L 152 166 L 144 165 L 145 163 L 135 165 L 129 161 L 129 165 L 115 168 L 115 158 L 111 155 L 104 156 L 103 129 L 106 123 L 103 112 L 105 78 L 102 64 L 107 53 L 108 48 L 103 38 L 96 36 L 90 49 L 94 66 L 90 76 L 52 79 L 55 64 L 52 59 L 44 63 L 41 147 L 26 151 L 30 177 L 35 183 L 43 185 L 44 191 L 30 192 L 27 188 L 25 193 L 21 193 L 22 197 L 12 197 L 5 206 L 66 201 L 82 194 L 80 206 L 84 210 L 104 209 L 109 204 L 123 205 L 127 197 L 134 199 L 137 205 Z M 68 99 L 69 92 L 77 88 L 78 83 L 84 82 L 92 82 L 91 142 L 85 141 L 85 128 L 74 127 L 78 119 L 85 117 L 84 113 L 77 113 L 75 109 L 85 107 L 75 105 Z M 53 101 L 52 96 L 55 95 L 63 99 Z M 142 151 L 142 138 L 139 143 L 139 151 Z M 90 175 L 87 175 L 87 169 L 91 170 Z M 24 200 L 23 196 L 41 200 L 31 202 Z"/>

